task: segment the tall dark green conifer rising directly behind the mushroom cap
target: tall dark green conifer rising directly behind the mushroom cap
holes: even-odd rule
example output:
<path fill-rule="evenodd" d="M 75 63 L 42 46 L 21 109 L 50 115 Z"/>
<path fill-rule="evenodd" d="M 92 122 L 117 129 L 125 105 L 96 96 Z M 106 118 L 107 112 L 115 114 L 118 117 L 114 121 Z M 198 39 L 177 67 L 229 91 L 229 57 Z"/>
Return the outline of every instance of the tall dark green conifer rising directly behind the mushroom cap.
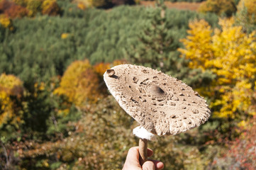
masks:
<path fill-rule="evenodd" d="M 148 10 L 148 18 L 142 22 L 143 29 L 138 31 L 138 39 L 128 42 L 125 52 L 127 59 L 135 64 L 167 72 L 169 52 L 176 50 L 177 45 L 174 45 L 174 38 L 166 25 L 163 1 L 157 1 L 157 8 Z"/>

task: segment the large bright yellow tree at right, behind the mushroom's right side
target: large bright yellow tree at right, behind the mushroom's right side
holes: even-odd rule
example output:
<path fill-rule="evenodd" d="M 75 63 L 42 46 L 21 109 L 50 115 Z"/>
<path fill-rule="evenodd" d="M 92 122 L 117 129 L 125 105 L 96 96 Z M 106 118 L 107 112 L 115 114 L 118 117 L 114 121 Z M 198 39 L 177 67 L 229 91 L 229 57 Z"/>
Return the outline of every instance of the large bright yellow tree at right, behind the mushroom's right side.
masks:
<path fill-rule="evenodd" d="M 211 108 L 222 118 L 240 118 L 255 115 L 256 37 L 246 34 L 242 26 L 233 26 L 234 20 L 220 19 L 221 29 L 214 31 L 206 21 L 189 24 L 189 35 L 183 39 L 185 49 L 180 49 L 191 68 L 211 69 L 217 75 L 211 87 L 199 89 L 215 91 Z M 213 35 L 211 35 L 213 33 Z M 221 107 L 221 108 L 220 108 Z"/>

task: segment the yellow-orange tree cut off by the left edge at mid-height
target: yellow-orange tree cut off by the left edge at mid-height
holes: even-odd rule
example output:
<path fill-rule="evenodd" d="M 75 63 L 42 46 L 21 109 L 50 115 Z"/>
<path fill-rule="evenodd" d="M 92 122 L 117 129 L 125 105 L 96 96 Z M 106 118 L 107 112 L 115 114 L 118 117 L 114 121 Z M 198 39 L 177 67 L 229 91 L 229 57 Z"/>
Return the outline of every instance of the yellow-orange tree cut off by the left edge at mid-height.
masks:
<path fill-rule="evenodd" d="M 15 102 L 11 96 L 20 98 L 23 94 L 23 84 L 13 75 L 1 74 L 0 76 L 0 128 L 9 123 L 18 127 L 21 123 L 21 113 L 16 110 Z"/>

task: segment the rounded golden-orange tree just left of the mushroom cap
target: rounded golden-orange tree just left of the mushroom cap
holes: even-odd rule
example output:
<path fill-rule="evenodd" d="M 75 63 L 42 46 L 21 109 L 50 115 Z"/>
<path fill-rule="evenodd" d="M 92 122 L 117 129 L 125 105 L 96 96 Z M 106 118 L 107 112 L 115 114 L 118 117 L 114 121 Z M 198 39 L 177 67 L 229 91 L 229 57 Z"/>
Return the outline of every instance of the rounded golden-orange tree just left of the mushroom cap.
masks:
<path fill-rule="evenodd" d="M 69 65 L 54 93 L 65 95 L 70 102 L 83 107 L 99 98 L 98 86 L 99 79 L 89 61 L 76 61 Z"/>

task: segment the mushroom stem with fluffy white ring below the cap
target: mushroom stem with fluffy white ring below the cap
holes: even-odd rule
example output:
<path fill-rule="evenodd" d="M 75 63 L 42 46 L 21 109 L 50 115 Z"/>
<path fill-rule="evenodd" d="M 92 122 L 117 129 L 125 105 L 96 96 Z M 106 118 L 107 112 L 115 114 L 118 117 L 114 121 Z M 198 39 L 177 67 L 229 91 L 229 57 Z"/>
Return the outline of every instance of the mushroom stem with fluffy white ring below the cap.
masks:
<path fill-rule="evenodd" d="M 140 152 L 140 165 L 142 166 L 144 162 L 148 161 L 148 140 L 154 140 L 155 135 L 148 132 L 142 126 L 138 126 L 133 129 L 133 134 L 140 137 L 139 141 L 139 152 Z"/>

